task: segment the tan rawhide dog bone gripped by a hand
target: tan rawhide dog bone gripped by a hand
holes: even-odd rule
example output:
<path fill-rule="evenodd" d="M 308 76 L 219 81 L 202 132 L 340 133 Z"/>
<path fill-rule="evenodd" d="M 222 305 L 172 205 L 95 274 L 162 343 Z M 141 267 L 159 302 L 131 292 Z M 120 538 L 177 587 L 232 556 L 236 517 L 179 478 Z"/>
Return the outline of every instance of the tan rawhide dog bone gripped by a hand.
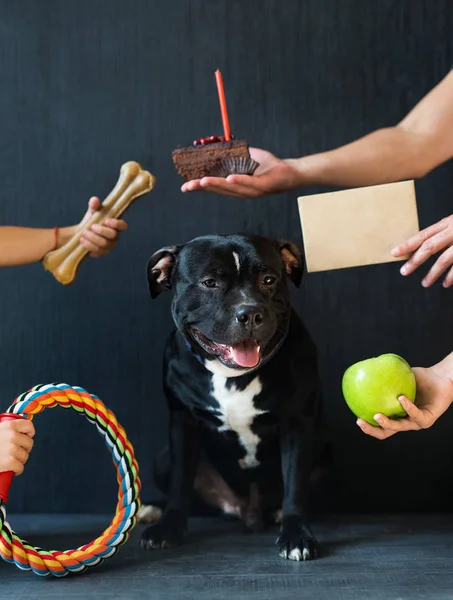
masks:
<path fill-rule="evenodd" d="M 117 184 L 102 203 L 102 208 L 79 227 L 64 246 L 45 255 L 44 268 L 63 285 L 71 284 L 76 278 L 81 262 L 89 252 L 80 244 L 82 233 L 94 224 L 102 224 L 106 219 L 121 217 L 136 198 L 153 189 L 155 182 L 156 178 L 144 171 L 137 162 L 125 163 L 121 167 Z"/>

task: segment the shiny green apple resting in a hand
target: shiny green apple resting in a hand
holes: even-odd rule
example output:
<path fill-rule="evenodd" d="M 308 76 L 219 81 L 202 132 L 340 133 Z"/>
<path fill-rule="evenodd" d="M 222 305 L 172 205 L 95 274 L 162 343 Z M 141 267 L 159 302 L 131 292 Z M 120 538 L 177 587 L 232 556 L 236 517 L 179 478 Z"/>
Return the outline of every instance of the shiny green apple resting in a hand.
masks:
<path fill-rule="evenodd" d="M 352 412 L 370 425 L 374 415 L 406 416 L 399 396 L 415 400 L 416 383 L 410 365 L 397 354 L 382 354 L 351 365 L 343 375 L 343 396 Z"/>

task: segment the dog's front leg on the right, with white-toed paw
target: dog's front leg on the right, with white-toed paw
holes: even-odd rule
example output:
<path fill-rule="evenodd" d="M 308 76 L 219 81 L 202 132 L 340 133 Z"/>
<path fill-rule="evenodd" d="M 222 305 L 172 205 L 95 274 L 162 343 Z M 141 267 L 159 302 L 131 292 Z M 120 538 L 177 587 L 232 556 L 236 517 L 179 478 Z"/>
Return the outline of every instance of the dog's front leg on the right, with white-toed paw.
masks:
<path fill-rule="evenodd" d="M 311 560 L 317 555 L 316 539 L 306 514 L 312 448 L 310 423 L 300 418 L 284 425 L 280 433 L 284 492 L 277 544 L 280 556 L 290 560 Z"/>

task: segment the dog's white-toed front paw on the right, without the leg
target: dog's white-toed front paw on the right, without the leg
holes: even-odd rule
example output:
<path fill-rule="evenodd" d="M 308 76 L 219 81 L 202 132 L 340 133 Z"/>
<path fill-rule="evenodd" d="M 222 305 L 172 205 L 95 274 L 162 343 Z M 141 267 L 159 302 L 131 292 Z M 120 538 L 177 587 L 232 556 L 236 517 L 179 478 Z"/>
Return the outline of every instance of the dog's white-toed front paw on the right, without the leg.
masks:
<path fill-rule="evenodd" d="M 318 555 L 318 543 L 310 527 L 296 515 L 283 517 L 277 540 L 278 553 L 289 560 L 312 560 Z"/>

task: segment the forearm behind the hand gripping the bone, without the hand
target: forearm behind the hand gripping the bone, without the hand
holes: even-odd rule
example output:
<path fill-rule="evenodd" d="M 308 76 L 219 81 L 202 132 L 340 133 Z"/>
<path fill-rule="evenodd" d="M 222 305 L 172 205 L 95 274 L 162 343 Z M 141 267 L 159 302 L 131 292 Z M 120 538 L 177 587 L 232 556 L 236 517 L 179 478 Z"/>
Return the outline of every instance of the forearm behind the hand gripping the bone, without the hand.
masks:
<path fill-rule="evenodd" d="M 58 247 L 63 246 L 74 231 L 74 227 L 60 229 L 58 231 Z M 0 227 L 0 267 L 38 262 L 54 248 L 53 229 Z"/>

